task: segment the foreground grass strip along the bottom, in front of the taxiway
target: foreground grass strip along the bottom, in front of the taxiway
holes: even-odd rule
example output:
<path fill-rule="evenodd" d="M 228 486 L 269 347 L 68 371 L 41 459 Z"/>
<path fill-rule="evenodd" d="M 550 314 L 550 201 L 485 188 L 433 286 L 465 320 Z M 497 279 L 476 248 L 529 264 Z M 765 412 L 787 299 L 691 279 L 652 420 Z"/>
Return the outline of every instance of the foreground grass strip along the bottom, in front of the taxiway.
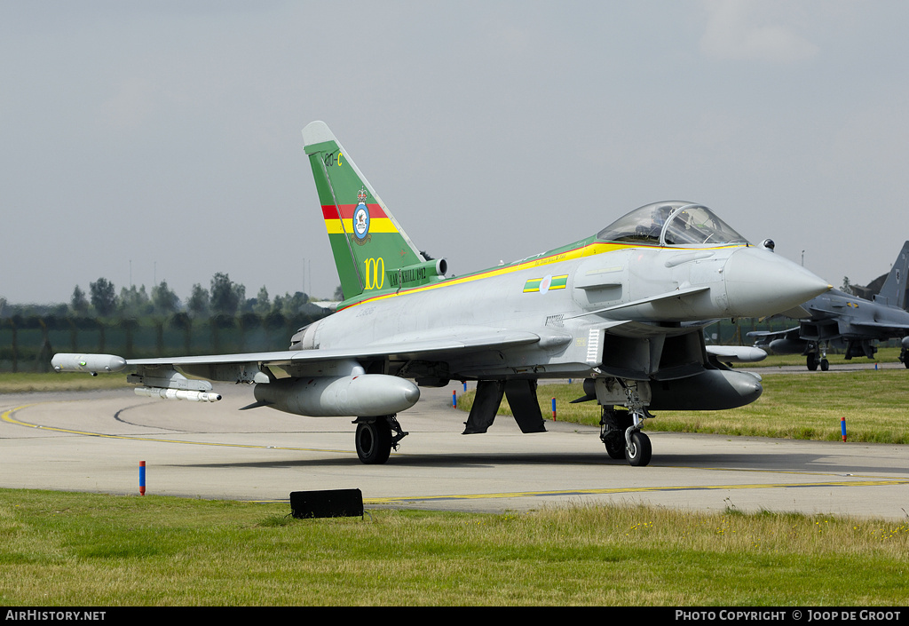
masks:
<path fill-rule="evenodd" d="M 909 586 L 905 522 L 732 506 L 289 511 L 0 490 L 0 605 L 899 606 Z"/>

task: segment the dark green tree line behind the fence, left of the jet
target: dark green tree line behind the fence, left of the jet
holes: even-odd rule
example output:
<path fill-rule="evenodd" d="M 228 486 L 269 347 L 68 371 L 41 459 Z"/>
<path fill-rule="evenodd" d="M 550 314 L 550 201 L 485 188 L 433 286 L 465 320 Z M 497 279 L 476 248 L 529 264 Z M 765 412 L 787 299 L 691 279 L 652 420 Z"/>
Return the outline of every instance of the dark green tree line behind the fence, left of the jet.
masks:
<path fill-rule="evenodd" d="M 55 352 L 110 352 L 125 358 L 285 349 L 297 328 L 330 311 L 303 292 L 256 298 L 227 274 L 195 284 L 183 303 L 162 280 L 151 289 L 98 278 L 70 302 L 10 305 L 0 298 L 0 371 L 48 371 Z"/>

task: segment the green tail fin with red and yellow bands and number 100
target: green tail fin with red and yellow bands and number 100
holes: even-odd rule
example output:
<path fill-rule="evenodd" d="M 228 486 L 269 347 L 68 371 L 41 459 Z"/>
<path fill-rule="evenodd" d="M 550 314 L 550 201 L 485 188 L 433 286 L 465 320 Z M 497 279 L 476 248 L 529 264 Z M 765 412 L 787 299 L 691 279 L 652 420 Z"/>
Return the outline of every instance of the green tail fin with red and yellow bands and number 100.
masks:
<path fill-rule="evenodd" d="M 441 280 L 324 122 L 303 129 L 345 301 Z"/>

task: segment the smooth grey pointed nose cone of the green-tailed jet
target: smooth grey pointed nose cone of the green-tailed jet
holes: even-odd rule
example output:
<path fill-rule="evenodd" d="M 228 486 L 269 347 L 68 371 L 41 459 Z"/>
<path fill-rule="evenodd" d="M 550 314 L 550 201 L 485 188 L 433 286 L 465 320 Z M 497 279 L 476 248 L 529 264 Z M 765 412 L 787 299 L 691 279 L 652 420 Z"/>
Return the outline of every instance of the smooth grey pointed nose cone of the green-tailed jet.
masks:
<path fill-rule="evenodd" d="M 788 258 L 757 247 L 733 252 L 724 265 L 724 283 L 729 310 L 738 318 L 782 313 L 831 288 Z"/>

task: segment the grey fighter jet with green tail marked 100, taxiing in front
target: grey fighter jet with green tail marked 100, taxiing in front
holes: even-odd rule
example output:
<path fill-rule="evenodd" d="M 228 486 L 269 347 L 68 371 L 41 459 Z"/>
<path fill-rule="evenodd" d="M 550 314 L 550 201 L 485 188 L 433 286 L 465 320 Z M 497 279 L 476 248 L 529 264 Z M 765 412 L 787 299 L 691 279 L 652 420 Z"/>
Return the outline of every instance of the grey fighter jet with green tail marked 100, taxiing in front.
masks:
<path fill-rule="evenodd" d="M 567 246 L 454 276 L 445 259 L 421 254 L 328 126 L 309 124 L 303 142 L 345 295 L 335 313 L 300 328 L 284 351 L 58 354 L 54 368 L 132 368 L 137 394 L 167 399 L 220 399 L 208 380 L 255 384 L 251 407 L 355 418 L 364 463 L 384 463 L 398 448 L 407 432 L 397 414 L 421 387 L 476 381 L 464 434 L 485 432 L 503 396 L 520 429 L 535 433 L 545 430 L 537 381 L 585 379 L 603 407 L 609 454 L 644 466 L 652 447 L 641 427 L 651 409 L 729 409 L 762 392 L 758 377 L 724 364 L 764 351 L 706 347 L 705 320 L 772 315 L 830 288 L 683 201 L 640 207 Z M 561 215 L 590 218 L 580 209 Z"/>

